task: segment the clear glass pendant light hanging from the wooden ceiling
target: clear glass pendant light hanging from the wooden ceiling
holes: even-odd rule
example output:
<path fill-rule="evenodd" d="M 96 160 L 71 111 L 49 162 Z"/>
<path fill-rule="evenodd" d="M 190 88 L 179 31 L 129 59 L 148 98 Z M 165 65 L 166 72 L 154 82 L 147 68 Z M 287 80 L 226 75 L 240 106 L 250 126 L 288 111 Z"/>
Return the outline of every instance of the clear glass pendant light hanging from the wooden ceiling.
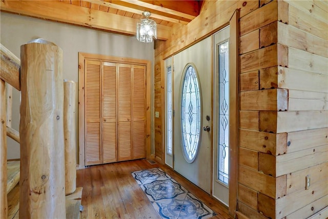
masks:
<path fill-rule="evenodd" d="M 145 11 L 142 14 L 146 17 L 141 19 L 140 23 L 137 23 L 137 39 L 140 42 L 152 43 L 153 37 L 157 38 L 157 25 L 156 22 L 148 17 L 151 15 L 150 12 Z"/>

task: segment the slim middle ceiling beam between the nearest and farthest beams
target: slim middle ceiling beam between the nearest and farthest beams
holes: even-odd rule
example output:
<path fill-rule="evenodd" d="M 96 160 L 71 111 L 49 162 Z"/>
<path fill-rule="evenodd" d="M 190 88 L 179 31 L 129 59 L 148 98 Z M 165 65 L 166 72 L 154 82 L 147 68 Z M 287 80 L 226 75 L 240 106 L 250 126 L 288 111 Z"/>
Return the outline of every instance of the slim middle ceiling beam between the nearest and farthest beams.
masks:
<path fill-rule="evenodd" d="M 132 12 L 135 14 L 141 14 L 141 15 L 142 15 L 142 12 L 149 11 L 152 13 L 152 15 L 150 17 L 153 17 L 156 19 L 161 19 L 163 21 L 179 23 L 179 24 L 183 24 L 183 25 L 187 25 L 189 22 L 191 22 L 191 19 L 189 19 L 189 18 L 177 16 L 177 15 L 166 13 L 163 11 L 157 11 L 157 10 L 154 10 L 151 8 L 146 8 L 144 6 L 134 5 L 129 2 L 124 2 L 124 1 L 83 0 L 83 2 L 90 2 L 93 4 L 103 5 L 103 6 L 107 6 L 110 8 L 129 11 L 129 12 Z"/>

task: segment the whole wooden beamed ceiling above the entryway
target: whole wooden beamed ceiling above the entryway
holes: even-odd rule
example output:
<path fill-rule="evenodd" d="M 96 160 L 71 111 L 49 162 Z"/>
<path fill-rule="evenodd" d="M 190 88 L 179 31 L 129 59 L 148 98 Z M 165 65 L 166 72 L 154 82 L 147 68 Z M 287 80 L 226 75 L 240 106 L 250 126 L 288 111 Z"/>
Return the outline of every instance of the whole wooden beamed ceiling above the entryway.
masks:
<path fill-rule="evenodd" d="M 142 12 L 149 11 L 157 23 L 157 38 L 167 40 L 171 27 L 187 25 L 199 15 L 201 5 L 200 0 L 2 0 L 1 11 L 127 35 L 136 34 Z"/>

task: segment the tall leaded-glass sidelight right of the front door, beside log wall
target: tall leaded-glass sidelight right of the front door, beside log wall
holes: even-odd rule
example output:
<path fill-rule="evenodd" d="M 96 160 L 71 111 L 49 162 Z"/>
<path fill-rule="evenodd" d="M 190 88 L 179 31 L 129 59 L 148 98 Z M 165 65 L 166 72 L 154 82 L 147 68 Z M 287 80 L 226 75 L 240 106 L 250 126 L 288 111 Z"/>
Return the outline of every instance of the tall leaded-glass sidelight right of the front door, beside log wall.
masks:
<path fill-rule="evenodd" d="M 228 185 L 229 180 L 229 41 L 218 45 L 219 78 L 219 136 L 218 180 Z"/>

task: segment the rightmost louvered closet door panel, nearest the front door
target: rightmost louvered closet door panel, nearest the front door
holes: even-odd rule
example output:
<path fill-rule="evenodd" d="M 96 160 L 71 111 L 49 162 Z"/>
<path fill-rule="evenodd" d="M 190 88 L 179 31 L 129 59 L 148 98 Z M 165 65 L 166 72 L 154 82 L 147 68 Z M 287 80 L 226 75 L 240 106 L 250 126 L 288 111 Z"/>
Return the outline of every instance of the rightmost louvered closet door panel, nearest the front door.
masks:
<path fill-rule="evenodd" d="M 146 66 L 133 66 L 133 159 L 146 157 Z"/>

